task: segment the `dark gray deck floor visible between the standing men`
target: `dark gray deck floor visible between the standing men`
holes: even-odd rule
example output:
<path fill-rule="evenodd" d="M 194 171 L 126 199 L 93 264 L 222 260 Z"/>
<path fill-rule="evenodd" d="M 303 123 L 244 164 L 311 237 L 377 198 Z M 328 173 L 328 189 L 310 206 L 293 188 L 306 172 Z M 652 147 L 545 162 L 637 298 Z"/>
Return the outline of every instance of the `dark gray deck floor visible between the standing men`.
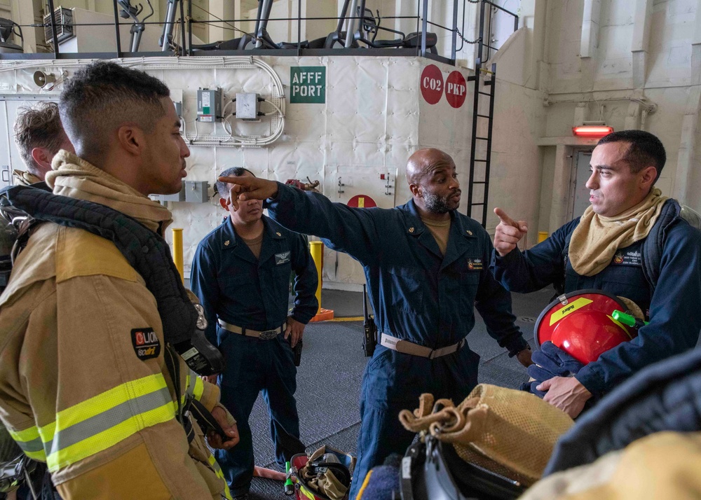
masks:
<path fill-rule="evenodd" d="M 513 311 L 524 337 L 533 346 L 533 324 L 552 297 L 552 289 L 528 295 L 513 294 Z M 336 317 L 362 316 L 362 294 L 324 290 L 322 306 Z M 479 381 L 517 387 L 527 380 L 526 370 L 489 337 L 477 314 L 468 340 L 481 357 Z M 297 408 L 302 442 L 308 450 L 323 444 L 355 452 L 360 428 L 358 397 L 367 358 L 362 354 L 361 321 L 327 321 L 309 324 L 304 333 L 304 354 L 297 374 Z M 418 403 L 418 401 L 417 401 Z M 269 438 L 268 410 L 258 398 L 250 417 L 256 464 L 277 468 Z M 254 478 L 252 499 L 285 499 L 283 483 Z"/>

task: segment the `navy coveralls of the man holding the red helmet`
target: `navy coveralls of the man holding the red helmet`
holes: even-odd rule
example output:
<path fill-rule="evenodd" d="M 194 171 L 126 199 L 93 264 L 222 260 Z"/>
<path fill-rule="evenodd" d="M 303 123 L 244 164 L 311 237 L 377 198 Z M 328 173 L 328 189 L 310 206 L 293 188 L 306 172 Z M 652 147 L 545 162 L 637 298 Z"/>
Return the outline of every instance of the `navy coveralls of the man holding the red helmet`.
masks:
<path fill-rule="evenodd" d="M 660 223 L 661 219 L 655 224 Z M 540 290 L 564 277 L 565 292 L 603 290 L 640 306 L 650 324 L 639 329 L 637 338 L 601 354 L 576 375 L 588 391 L 601 396 L 642 368 L 696 345 L 700 326 L 695 314 L 701 311 L 701 232 L 679 216 L 665 227 L 651 230 L 651 235 L 655 232 L 662 239 L 659 278 L 653 289 L 643 267 L 644 239 L 619 249 L 597 275 L 578 275 L 566 252 L 567 237 L 578 224 L 579 218 L 566 223 L 523 253 L 514 249 L 501 257 L 494 251 L 492 268 L 496 279 L 510 291 Z"/>

